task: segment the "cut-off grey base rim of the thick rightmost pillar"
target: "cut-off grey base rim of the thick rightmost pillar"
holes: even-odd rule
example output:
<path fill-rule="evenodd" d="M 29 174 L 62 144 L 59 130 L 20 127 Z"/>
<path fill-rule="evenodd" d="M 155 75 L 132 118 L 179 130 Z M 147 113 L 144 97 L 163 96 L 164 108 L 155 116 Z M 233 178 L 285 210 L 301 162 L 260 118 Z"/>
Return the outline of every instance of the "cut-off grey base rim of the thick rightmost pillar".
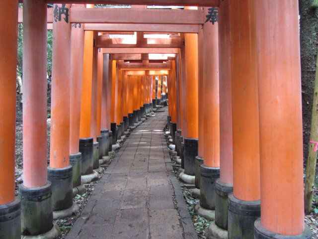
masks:
<path fill-rule="evenodd" d="M 287 236 L 276 234 L 263 228 L 260 218 L 254 223 L 254 239 L 311 239 L 312 237 L 312 231 L 307 226 L 305 226 L 304 233 L 295 236 Z"/>

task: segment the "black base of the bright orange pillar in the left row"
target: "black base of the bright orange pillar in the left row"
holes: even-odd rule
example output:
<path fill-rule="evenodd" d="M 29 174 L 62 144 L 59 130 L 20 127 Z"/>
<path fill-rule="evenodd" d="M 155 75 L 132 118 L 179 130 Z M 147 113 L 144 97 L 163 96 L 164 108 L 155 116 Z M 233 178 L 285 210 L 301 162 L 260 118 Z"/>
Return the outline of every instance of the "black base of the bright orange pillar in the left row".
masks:
<path fill-rule="evenodd" d="M 93 172 L 93 138 L 79 139 L 79 152 L 81 153 L 81 175 Z"/>

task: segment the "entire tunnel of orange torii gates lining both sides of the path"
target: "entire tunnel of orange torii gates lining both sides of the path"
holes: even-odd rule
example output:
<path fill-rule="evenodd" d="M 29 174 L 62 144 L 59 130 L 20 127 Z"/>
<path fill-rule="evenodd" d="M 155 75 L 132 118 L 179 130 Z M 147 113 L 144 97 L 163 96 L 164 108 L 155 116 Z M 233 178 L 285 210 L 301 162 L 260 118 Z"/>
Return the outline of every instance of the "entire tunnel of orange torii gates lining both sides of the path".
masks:
<path fill-rule="evenodd" d="M 165 93 L 181 180 L 200 189 L 200 207 L 215 210 L 216 226 L 233 239 L 311 238 L 298 15 L 298 0 L 23 0 L 23 9 L 1 0 L 0 238 L 48 233 L 53 218 L 76 211 L 73 188 L 93 180 L 98 159 Z M 15 197 L 18 22 L 24 180 Z"/>

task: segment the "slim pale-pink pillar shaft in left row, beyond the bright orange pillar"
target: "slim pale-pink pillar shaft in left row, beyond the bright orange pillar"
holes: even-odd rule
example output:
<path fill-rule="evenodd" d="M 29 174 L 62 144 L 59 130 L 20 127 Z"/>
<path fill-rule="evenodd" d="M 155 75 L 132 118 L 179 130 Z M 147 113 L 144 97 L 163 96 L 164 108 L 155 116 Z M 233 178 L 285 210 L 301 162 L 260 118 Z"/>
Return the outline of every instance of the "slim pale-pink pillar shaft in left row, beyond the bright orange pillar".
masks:
<path fill-rule="evenodd" d="M 102 65 L 102 94 L 101 94 L 101 119 L 100 128 L 109 129 L 110 125 L 107 124 L 107 105 L 108 105 L 108 71 L 109 71 L 109 54 L 103 54 Z"/>

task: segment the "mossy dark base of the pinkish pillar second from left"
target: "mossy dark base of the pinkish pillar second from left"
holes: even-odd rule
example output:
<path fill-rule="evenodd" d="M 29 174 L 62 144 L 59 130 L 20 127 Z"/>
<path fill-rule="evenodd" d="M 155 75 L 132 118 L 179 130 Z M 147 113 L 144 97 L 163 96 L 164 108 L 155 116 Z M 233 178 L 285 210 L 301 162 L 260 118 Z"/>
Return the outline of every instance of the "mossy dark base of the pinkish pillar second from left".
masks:
<path fill-rule="evenodd" d="M 21 235 L 38 236 L 53 227 L 52 185 L 27 188 L 19 185 L 21 196 Z"/>

